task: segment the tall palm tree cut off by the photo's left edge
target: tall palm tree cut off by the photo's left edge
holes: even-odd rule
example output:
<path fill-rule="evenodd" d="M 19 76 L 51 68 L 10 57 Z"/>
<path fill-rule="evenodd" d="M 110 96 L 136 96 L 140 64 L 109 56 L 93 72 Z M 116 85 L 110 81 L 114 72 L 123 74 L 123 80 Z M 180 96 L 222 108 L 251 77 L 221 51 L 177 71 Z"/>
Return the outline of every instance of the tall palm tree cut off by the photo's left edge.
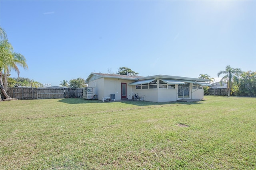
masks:
<path fill-rule="evenodd" d="M 22 54 L 14 52 L 12 45 L 6 39 L 7 36 L 2 27 L 0 27 L 0 36 L 0 88 L 6 98 L 11 98 L 8 96 L 3 86 L 3 74 L 5 77 L 5 84 L 7 84 L 7 75 L 10 74 L 11 70 L 14 70 L 19 76 L 20 70 L 18 69 L 18 66 L 27 69 L 28 65 Z"/>

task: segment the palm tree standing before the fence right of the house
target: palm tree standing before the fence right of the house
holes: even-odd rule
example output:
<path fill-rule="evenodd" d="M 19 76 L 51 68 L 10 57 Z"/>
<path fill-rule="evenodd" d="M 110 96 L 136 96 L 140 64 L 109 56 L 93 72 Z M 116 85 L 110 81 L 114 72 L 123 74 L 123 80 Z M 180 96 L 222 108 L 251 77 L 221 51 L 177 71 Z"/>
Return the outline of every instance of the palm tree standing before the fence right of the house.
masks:
<path fill-rule="evenodd" d="M 228 97 L 230 96 L 230 89 L 233 86 L 233 83 L 238 83 L 238 76 L 242 74 L 242 70 L 240 68 L 232 68 L 230 65 L 226 66 L 226 70 L 218 72 L 217 76 L 220 74 L 226 74 L 220 79 L 220 82 L 227 81 L 228 82 Z"/>

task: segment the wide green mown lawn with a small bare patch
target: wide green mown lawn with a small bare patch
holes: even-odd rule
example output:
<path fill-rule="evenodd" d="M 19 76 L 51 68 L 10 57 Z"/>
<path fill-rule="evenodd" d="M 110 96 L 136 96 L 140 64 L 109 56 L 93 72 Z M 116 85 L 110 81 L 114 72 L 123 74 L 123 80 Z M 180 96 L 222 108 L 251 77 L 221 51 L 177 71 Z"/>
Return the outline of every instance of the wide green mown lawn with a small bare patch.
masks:
<path fill-rule="evenodd" d="M 256 98 L 0 102 L 1 169 L 255 169 Z"/>

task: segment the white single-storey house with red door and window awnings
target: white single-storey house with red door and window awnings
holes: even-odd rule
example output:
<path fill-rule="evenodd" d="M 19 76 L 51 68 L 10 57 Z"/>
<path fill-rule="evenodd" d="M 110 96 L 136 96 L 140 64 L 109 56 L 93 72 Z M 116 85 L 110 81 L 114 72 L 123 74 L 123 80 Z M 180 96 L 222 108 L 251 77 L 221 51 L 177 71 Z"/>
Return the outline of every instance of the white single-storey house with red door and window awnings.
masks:
<path fill-rule="evenodd" d="M 180 76 L 129 76 L 91 73 L 86 79 L 98 99 L 115 96 L 116 100 L 140 99 L 150 102 L 174 102 L 182 99 L 203 99 L 203 86 L 210 80 Z"/>

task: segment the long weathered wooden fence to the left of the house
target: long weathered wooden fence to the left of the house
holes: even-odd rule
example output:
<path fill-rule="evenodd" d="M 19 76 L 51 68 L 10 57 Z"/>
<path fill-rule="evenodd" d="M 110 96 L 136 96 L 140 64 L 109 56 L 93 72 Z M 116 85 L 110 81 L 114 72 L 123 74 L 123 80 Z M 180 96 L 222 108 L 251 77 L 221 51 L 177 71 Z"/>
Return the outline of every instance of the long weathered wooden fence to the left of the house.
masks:
<path fill-rule="evenodd" d="M 17 99 L 81 98 L 83 89 L 72 88 L 8 88 L 6 93 Z"/>

